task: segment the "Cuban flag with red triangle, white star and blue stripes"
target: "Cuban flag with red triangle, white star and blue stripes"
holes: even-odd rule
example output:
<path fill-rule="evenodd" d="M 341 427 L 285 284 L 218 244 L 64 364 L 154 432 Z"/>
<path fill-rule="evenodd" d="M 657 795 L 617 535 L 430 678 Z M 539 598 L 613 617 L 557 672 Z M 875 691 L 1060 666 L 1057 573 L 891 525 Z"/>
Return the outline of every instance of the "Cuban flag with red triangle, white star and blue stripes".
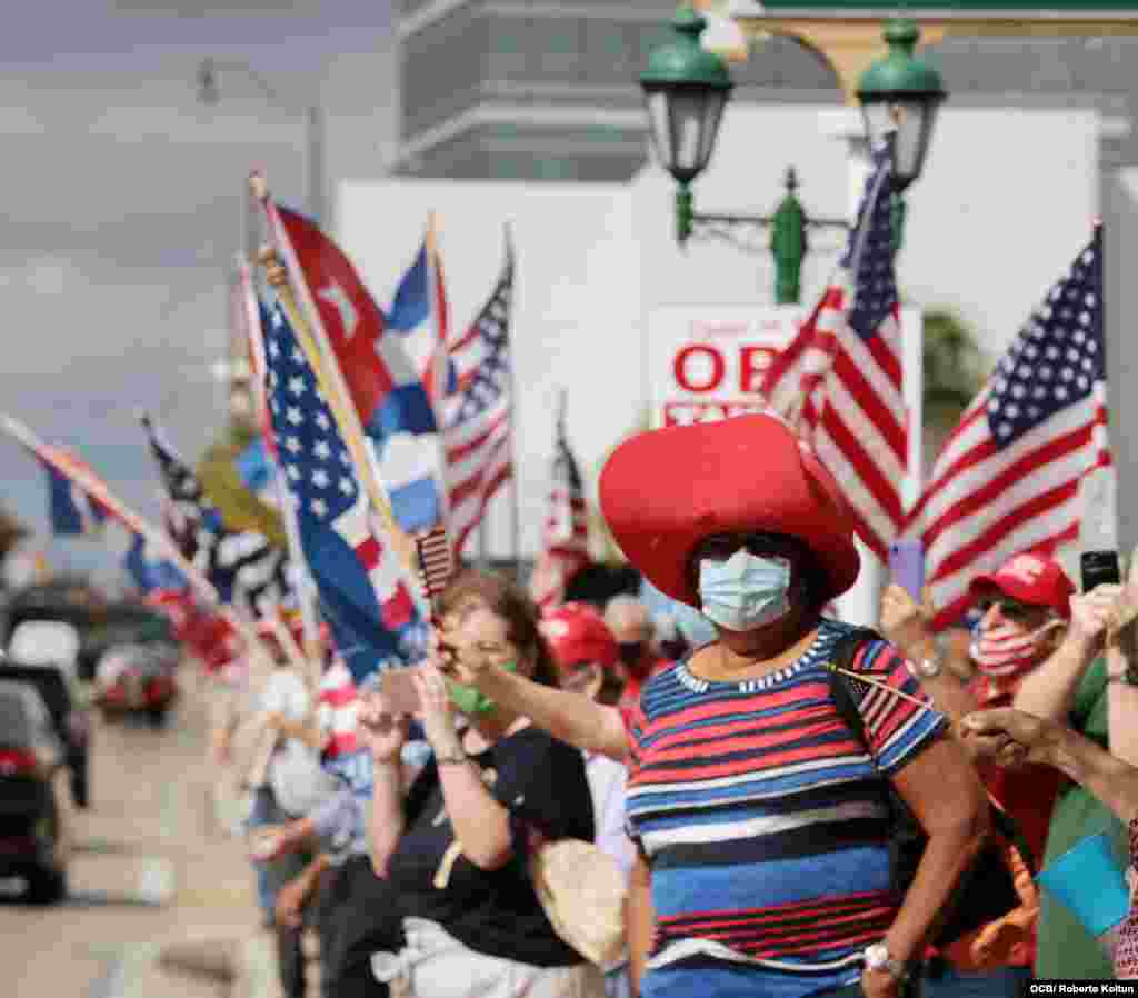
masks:
<path fill-rule="evenodd" d="M 409 534 L 434 527 L 444 505 L 434 381 L 424 381 L 432 361 L 415 360 L 409 347 L 419 348 L 418 333 L 389 327 L 352 262 L 315 224 L 270 199 L 265 212 L 300 306 L 336 354 L 395 519 Z M 404 281 L 404 316 L 414 312 L 417 281 Z"/>

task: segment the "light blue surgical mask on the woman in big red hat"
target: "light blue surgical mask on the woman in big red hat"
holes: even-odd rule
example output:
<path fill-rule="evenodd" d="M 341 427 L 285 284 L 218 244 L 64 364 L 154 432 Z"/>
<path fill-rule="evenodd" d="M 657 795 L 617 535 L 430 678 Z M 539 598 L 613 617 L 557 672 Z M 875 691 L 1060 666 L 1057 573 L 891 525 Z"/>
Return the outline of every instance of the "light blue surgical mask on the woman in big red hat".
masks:
<path fill-rule="evenodd" d="M 790 562 L 741 547 L 726 561 L 700 560 L 703 616 L 727 630 L 766 627 L 790 611 Z"/>

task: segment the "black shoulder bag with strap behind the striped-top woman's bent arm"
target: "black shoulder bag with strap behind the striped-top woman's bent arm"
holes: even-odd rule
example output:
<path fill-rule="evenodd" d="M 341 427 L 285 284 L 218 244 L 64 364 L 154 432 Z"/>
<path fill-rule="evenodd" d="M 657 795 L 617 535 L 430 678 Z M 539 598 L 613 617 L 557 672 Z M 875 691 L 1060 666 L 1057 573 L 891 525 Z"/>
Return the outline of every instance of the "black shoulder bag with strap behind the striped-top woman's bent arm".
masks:
<path fill-rule="evenodd" d="M 852 669 L 855 654 L 869 641 L 883 641 L 883 638 L 869 628 L 858 628 L 843 637 L 831 655 L 832 665 L 857 671 Z M 868 673 L 867 675 L 872 676 Z M 841 673 L 830 671 L 830 690 L 834 707 L 846 726 L 857 735 L 858 741 L 866 745 L 868 751 L 865 720 L 858 709 L 860 698 L 850 688 L 856 683 L 852 677 L 847 678 Z M 929 836 L 909 806 L 893 789 L 892 782 L 884 776 L 881 782 L 890 825 L 890 879 L 897 904 L 900 904 L 916 876 Z M 1020 853 L 1026 868 L 1034 872 L 1031 850 L 1019 826 L 1006 811 L 995 805 L 990 807 L 993 834 L 989 836 L 972 866 L 957 882 L 938 921 L 932 941 L 940 948 L 981 925 L 995 922 L 1023 904 L 1015 889 L 1015 876 L 1005 857 L 1007 846 L 1012 846 Z"/>

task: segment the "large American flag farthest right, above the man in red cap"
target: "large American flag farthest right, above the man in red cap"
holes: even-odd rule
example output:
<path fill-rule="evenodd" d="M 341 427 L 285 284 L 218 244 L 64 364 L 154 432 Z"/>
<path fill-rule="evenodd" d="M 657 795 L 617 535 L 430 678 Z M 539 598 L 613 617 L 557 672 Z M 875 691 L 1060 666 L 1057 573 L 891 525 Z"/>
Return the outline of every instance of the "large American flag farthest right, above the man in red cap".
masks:
<path fill-rule="evenodd" d="M 906 533 L 925 549 L 937 622 L 970 582 L 1079 535 L 1079 482 L 1106 439 L 1102 226 L 1012 341 L 945 444 Z"/>

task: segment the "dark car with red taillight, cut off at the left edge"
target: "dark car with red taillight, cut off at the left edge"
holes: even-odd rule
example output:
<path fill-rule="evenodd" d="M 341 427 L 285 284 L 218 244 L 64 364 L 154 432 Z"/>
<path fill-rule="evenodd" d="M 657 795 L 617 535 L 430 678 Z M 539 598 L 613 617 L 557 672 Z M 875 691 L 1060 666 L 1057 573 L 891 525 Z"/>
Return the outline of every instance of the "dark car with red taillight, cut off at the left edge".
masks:
<path fill-rule="evenodd" d="M 33 904 L 67 893 L 72 836 L 63 744 L 36 688 L 0 679 L 0 877 L 20 877 Z"/>

